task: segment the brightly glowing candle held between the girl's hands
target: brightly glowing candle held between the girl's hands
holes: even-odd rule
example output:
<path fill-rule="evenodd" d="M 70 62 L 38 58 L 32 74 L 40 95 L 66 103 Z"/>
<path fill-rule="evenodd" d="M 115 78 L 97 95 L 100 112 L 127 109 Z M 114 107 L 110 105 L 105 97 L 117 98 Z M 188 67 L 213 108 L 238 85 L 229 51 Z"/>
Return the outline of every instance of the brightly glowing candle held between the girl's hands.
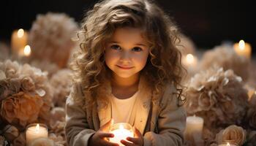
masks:
<path fill-rule="evenodd" d="M 110 133 L 114 134 L 113 138 L 110 138 L 110 142 L 117 143 L 120 146 L 121 139 L 126 140 L 127 137 L 134 137 L 132 126 L 129 123 L 116 123 L 110 126 Z"/>

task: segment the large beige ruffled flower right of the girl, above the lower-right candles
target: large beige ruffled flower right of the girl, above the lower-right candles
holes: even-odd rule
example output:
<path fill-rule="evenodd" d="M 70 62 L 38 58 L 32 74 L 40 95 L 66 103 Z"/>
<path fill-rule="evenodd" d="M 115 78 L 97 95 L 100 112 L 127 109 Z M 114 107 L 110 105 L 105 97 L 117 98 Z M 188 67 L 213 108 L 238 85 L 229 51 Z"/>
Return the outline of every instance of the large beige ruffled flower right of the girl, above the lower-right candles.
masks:
<path fill-rule="evenodd" d="M 186 94 L 188 115 L 202 117 L 208 129 L 241 123 L 249 105 L 241 77 L 230 69 L 211 68 L 195 74 Z"/>

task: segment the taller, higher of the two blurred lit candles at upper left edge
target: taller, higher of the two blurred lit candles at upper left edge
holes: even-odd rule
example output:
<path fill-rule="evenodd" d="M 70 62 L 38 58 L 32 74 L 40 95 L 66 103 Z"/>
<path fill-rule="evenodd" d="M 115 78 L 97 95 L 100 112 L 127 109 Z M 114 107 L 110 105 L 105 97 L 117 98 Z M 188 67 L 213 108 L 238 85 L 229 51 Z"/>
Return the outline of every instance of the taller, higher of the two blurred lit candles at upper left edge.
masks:
<path fill-rule="evenodd" d="M 15 55 L 22 55 L 23 48 L 27 45 L 28 33 L 23 29 L 15 30 L 12 33 L 11 47 L 12 53 Z"/>

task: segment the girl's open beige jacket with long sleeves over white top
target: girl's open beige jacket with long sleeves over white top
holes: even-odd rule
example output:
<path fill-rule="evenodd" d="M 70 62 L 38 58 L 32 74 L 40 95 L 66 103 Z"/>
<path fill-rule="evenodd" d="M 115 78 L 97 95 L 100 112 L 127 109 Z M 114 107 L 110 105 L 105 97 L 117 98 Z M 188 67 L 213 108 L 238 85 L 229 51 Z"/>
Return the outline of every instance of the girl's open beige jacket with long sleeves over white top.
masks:
<path fill-rule="evenodd" d="M 168 85 L 162 98 L 152 101 L 151 88 L 140 77 L 138 98 L 132 110 L 133 126 L 138 128 L 144 138 L 144 146 L 183 145 L 183 133 L 186 126 L 186 112 L 178 107 L 176 90 Z M 110 96 L 110 84 L 103 86 L 99 95 Z M 110 102 L 97 99 L 91 109 L 83 110 L 83 104 L 77 103 L 72 96 L 83 98 L 80 85 L 74 85 L 66 103 L 66 137 L 70 146 L 87 146 L 89 138 L 111 119 Z"/>

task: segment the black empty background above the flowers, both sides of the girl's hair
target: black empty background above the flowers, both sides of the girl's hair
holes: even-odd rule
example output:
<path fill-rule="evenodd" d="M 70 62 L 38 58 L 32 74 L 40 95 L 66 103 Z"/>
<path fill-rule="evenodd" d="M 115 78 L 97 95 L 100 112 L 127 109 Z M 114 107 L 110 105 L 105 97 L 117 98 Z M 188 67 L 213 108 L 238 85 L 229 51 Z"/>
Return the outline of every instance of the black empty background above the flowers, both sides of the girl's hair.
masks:
<path fill-rule="evenodd" d="M 84 12 L 94 6 L 95 0 L 26 0 L 1 1 L 0 41 L 10 42 L 12 31 L 29 30 L 37 14 L 65 12 L 80 23 Z M 244 39 L 255 43 L 255 5 L 252 1 L 214 0 L 159 0 L 165 12 L 176 20 L 184 34 L 196 47 L 209 49 L 222 42 Z"/>

